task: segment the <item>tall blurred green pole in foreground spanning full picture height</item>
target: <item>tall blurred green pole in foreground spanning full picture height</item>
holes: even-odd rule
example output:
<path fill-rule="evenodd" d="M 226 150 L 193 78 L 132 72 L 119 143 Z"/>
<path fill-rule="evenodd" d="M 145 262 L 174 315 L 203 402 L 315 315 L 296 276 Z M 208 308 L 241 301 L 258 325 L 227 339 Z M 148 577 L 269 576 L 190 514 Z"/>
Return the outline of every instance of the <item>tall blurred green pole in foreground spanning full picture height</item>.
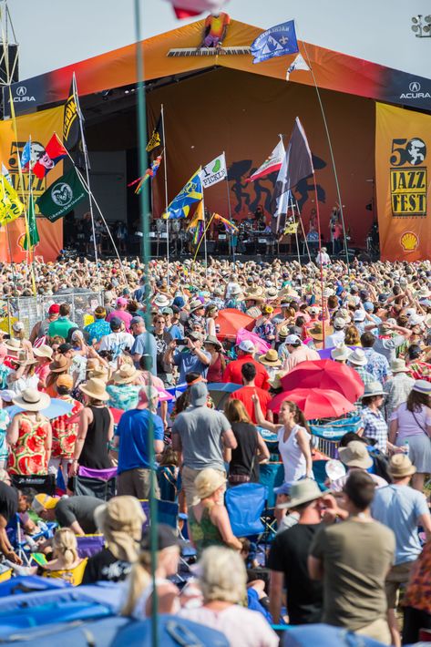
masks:
<path fill-rule="evenodd" d="M 139 176 L 145 173 L 147 165 L 146 145 L 147 145 L 147 123 L 145 108 L 145 87 L 144 87 L 144 50 L 140 35 L 140 0 L 135 0 L 135 29 L 136 29 L 136 63 L 138 71 L 138 152 L 139 152 Z M 165 158 L 166 163 L 166 158 Z M 165 167 L 166 169 L 166 167 Z M 149 330 L 149 188 L 148 182 L 139 193 L 140 220 L 142 224 L 142 246 L 145 276 L 145 321 L 147 331 Z M 146 346 L 149 349 L 149 334 L 147 334 Z M 151 384 L 149 382 L 149 389 Z M 156 587 L 156 569 L 157 569 L 157 507 L 155 498 L 155 465 L 154 465 L 154 426 L 152 418 L 149 416 L 149 465 L 150 488 L 149 488 L 149 517 L 150 517 L 150 546 L 151 546 L 151 575 L 153 584 L 152 610 L 151 610 L 151 645 L 159 645 L 159 619 L 158 619 L 158 597 Z"/>

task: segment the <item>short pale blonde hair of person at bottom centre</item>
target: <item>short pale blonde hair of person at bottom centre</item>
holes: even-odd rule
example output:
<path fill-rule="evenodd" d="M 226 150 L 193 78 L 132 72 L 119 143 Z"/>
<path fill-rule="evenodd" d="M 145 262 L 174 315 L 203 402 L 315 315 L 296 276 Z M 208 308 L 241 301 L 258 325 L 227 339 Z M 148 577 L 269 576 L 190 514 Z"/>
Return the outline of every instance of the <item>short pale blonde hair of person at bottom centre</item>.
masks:
<path fill-rule="evenodd" d="M 199 562 L 200 589 L 205 602 L 237 602 L 246 595 L 247 573 L 239 553 L 220 546 L 210 546 Z"/>

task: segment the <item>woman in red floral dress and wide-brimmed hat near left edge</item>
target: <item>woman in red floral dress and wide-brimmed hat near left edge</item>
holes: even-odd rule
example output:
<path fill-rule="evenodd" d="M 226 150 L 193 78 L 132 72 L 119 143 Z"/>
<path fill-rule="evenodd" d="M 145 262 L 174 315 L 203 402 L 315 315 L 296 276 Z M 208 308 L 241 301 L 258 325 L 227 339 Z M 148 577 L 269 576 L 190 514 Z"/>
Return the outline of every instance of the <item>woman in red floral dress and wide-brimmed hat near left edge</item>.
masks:
<path fill-rule="evenodd" d="M 10 454 L 7 471 L 11 475 L 46 475 L 51 457 L 51 423 L 43 410 L 51 398 L 36 389 L 26 389 L 16 395 L 13 404 L 23 411 L 14 416 L 6 434 Z"/>

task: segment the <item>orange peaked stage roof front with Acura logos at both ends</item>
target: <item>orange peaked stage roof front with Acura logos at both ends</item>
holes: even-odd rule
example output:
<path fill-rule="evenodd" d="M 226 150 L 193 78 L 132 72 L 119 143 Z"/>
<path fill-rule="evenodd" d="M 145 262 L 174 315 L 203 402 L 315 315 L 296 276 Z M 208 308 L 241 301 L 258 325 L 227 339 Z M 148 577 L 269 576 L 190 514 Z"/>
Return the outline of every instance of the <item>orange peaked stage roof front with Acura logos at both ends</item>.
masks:
<path fill-rule="evenodd" d="M 204 56 L 201 53 L 198 56 L 195 50 L 200 47 L 203 29 L 204 20 L 200 20 L 142 41 L 145 80 L 162 77 L 174 80 L 178 75 L 212 67 L 231 67 L 284 80 L 286 70 L 296 56 L 279 56 L 254 65 L 249 48 L 264 30 L 236 20 L 231 21 L 223 47 L 228 48 L 228 51 L 230 47 L 237 47 L 240 53 L 217 56 Z M 416 77 L 301 41 L 299 47 L 304 59 L 311 63 L 313 75 L 309 71 L 294 71 L 290 77 L 292 82 L 313 86 L 314 76 L 318 87 L 411 108 L 431 109 L 431 79 Z M 67 98 L 74 71 L 80 96 L 133 86 L 138 81 L 136 47 L 121 47 L 15 83 L 12 86 L 12 96 L 16 114 L 34 112 L 38 108 L 63 102 Z M 8 99 L 6 113 L 7 103 Z"/>

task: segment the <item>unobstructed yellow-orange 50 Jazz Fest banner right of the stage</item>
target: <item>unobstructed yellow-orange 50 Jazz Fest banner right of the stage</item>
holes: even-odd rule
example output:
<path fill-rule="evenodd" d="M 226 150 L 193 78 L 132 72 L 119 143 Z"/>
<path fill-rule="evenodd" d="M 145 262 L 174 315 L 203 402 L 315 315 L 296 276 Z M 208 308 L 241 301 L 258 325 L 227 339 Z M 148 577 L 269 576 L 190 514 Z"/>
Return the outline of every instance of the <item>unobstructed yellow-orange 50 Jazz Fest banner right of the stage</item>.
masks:
<path fill-rule="evenodd" d="M 431 117 L 376 104 L 375 180 L 381 257 L 431 258 Z"/>

